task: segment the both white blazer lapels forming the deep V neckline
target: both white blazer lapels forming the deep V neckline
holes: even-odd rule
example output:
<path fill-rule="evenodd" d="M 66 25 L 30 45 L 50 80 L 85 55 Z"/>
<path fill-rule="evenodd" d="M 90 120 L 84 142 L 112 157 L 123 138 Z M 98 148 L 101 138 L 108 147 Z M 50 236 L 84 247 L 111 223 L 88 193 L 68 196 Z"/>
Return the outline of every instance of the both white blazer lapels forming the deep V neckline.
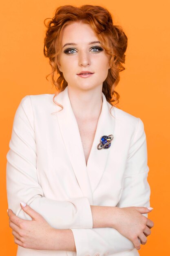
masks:
<path fill-rule="evenodd" d="M 102 99 L 102 111 L 99 116 L 95 138 L 86 166 L 77 120 L 68 97 L 68 87 L 55 97 L 55 101 L 63 106 L 63 109 L 61 110 L 60 106 L 55 105 L 55 109 L 57 108 L 57 120 L 63 143 L 66 147 L 80 189 L 82 190 L 83 195 L 89 199 L 91 204 L 93 204 L 92 193 L 102 177 L 110 153 L 110 148 L 112 148 L 112 144 L 114 143 L 113 138 L 110 148 L 97 149 L 97 145 L 100 143 L 100 138 L 102 136 L 111 134 L 114 136 L 115 127 L 115 119 L 109 112 L 111 105 L 106 101 L 104 93 L 102 93 Z"/>

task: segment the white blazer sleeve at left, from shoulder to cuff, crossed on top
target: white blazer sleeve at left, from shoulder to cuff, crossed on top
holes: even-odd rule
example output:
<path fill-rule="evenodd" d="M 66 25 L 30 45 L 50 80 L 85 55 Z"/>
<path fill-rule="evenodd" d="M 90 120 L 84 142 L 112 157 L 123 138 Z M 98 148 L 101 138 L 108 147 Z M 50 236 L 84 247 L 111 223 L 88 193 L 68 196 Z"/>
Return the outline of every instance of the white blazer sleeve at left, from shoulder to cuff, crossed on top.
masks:
<path fill-rule="evenodd" d="M 44 197 L 36 171 L 36 141 L 33 128 L 31 99 L 26 95 L 20 102 L 13 121 L 12 135 L 7 153 L 8 207 L 25 220 L 31 217 L 20 207 L 24 201 L 56 229 L 93 228 L 88 198 L 69 198 L 66 201 Z"/>

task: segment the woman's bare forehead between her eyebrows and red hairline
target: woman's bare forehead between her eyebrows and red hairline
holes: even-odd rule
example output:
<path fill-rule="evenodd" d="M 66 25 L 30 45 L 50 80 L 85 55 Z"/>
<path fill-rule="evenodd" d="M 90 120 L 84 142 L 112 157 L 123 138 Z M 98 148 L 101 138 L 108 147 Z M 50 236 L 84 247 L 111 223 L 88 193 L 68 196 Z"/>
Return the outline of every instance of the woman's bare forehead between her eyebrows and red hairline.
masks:
<path fill-rule="evenodd" d="M 89 43 L 98 40 L 91 25 L 82 22 L 73 22 L 62 31 L 62 44 L 66 43 Z"/>

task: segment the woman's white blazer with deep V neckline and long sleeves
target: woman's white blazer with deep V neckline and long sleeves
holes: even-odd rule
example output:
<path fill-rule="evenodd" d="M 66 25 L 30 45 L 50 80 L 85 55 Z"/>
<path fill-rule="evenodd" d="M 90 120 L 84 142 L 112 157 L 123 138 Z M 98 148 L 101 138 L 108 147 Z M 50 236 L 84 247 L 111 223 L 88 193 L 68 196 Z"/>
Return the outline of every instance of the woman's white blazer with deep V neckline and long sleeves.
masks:
<path fill-rule="evenodd" d="M 18 246 L 17 256 L 139 256 L 116 229 L 93 228 L 90 205 L 150 206 L 143 122 L 116 107 L 110 115 L 111 105 L 102 93 L 102 112 L 86 166 L 68 87 L 55 97 L 63 110 L 53 96 L 26 95 L 16 110 L 7 153 L 8 207 L 31 220 L 20 207 L 22 200 L 52 227 L 71 229 L 77 252 Z M 114 138 L 109 148 L 98 150 L 104 135 Z"/>

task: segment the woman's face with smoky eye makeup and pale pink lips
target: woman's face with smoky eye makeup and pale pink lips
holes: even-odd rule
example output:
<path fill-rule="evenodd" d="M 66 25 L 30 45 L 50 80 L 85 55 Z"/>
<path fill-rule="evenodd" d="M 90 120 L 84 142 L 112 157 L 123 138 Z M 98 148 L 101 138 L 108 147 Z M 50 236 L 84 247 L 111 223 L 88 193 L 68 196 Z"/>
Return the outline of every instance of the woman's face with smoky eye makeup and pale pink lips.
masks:
<path fill-rule="evenodd" d="M 90 25 L 73 22 L 66 26 L 62 34 L 62 52 L 59 70 L 63 73 L 68 86 L 80 90 L 102 88 L 108 75 L 109 55 L 106 54 Z M 91 43 L 93 42 L 93 43 Z M 68 44 L 69 45 L 65 45 Z M 82 71 L 94 73 L 81 77 Z"/>

